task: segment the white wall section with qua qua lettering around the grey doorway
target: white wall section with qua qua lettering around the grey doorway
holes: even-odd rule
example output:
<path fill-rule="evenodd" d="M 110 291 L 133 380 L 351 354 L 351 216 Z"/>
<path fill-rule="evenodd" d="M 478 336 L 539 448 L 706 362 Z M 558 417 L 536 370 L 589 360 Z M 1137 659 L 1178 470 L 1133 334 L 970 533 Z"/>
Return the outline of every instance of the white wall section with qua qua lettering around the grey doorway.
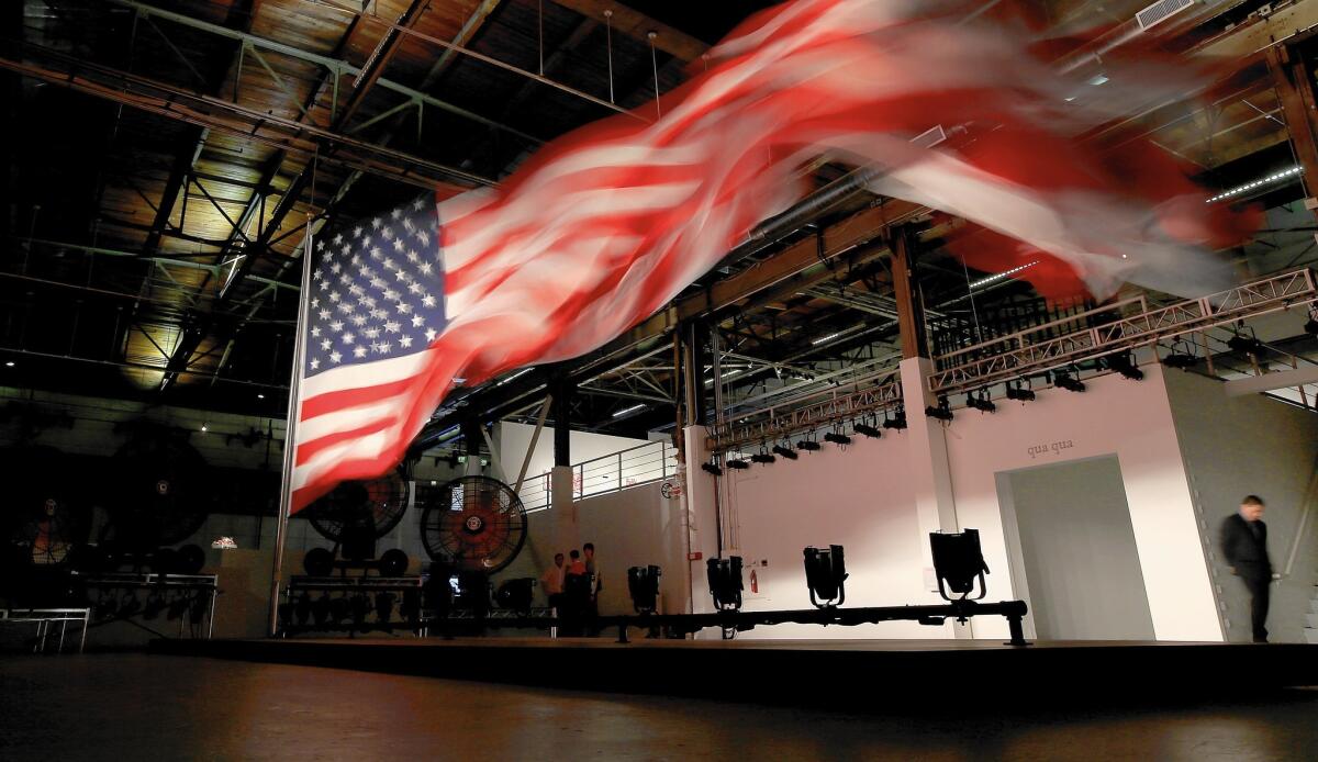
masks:
<path fill-rule="evenodd" d="M 1131 527 L 1160 641 L 1219 641 L 1194 506 L 1159 365 L 1143 381 L 1118 374 L 1086 380 L 1079 394 L 1041 390 L 1035 402 L 998 401 L 998 411 L 957 411 L 948 427 L 957 521 L 978 529 L 990 599 L 1008 597 L 1010 564 L 995 475 L 1048 463 L 1115 454 L 1126 483 Z M 1004 621 L 971 622 L 977 638 L 1007 634 Z"/>

